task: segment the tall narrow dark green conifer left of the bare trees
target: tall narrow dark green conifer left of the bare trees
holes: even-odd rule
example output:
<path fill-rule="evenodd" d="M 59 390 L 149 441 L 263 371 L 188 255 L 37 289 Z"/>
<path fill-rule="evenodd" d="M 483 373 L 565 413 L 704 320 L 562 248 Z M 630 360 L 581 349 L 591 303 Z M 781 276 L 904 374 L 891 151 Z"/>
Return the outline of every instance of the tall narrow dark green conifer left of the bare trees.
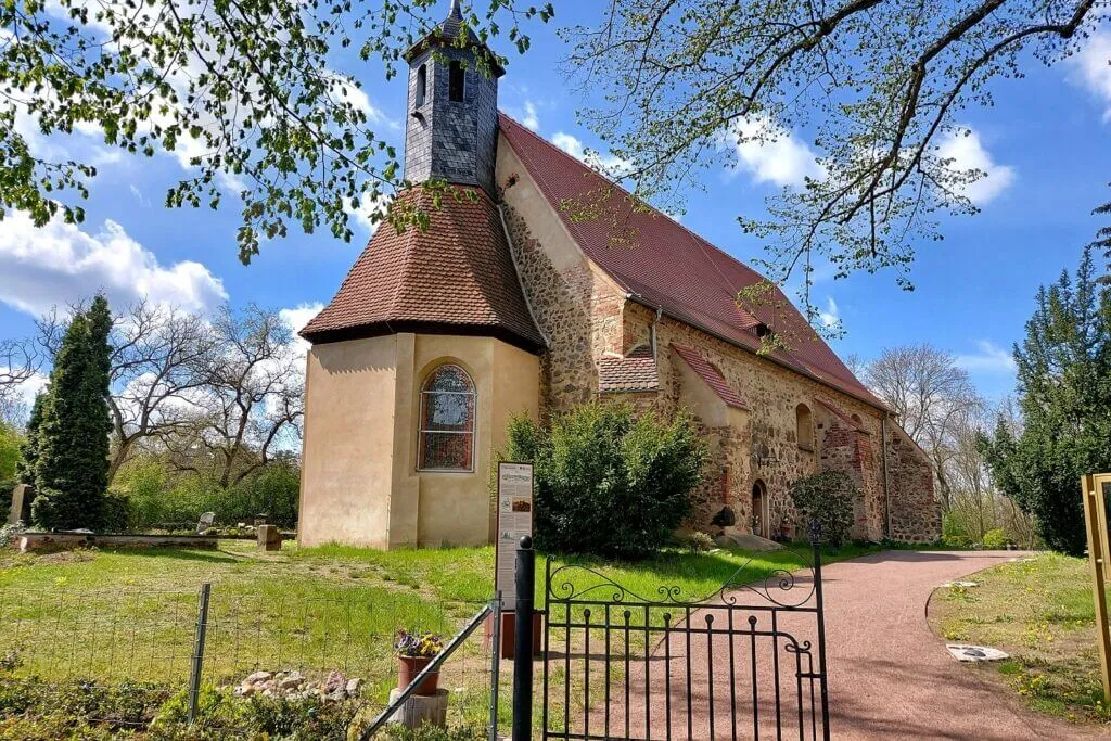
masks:
<path fill-rule="evenodd" d="M 50 393 L 36 432 L 34 524 L 51 530 L 101 524 L 108 489 L 112 317 L 98 296 L 73 317 L 54 357 Z"/>

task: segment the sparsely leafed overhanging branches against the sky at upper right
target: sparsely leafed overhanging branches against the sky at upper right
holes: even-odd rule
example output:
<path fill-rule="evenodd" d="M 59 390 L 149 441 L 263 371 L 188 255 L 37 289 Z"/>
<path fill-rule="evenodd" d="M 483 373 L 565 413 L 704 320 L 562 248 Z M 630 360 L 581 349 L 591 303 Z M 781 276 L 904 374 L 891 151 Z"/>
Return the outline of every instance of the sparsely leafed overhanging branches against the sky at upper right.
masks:
<path fill-rule="evenodd" d="M 635 194 L 667 206 L 724 148 L 808 132 L 819 152 L 803 186 L 764 219 L 779 283 L 814 264 L 839 276 L 892 268 L 910 289 L 913 246 L 941 238 L 939 212 L 974 212 L 940 144 L 991 106 L 989 82 L 1074 52 L 1104 17 L 1095 0 L 614 0 L 568 32 L 568 67 L 604 91 L 585 121 Z"/>

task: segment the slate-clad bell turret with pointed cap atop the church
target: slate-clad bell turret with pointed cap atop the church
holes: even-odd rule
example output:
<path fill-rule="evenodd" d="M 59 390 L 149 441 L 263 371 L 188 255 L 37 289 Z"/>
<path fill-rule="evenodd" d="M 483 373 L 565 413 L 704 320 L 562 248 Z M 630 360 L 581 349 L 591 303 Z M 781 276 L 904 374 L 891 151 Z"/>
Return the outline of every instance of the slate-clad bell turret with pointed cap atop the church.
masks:
<path fill-rule="evenodd" d="M 411 182 L 433 178 L 479 186 L 494 194 L 498 157 L 498 78 L 504 70 L 467 29 L 459 0 L 448 17 L 406 52 L 409 104 L 406 119 L 406 171 Z M 478 60 L 489 60 L 489 73 Z"/>

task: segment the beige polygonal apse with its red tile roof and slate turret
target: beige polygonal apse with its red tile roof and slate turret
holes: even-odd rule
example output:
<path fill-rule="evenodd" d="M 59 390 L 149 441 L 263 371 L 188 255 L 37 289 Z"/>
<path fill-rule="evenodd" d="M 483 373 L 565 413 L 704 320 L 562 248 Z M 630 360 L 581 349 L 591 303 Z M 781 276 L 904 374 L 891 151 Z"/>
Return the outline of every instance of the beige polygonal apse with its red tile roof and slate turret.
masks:
<path fill-rule="evenodd" d="M 462 41 L 462 42 L 460 42 Z M 489 491 L 513 414 L 540 409 L 537 329 L 494 192 L 498 78 L 458 0 L 406 52 L 404 177 L 426 229 L 382 223 L 302 330 L 302 545 L 492 542 Z M 483 66 L 486 67 L 486 66 Z M 399 91 L 400 92 L 400 91 Z M 419 187 L 444 180 L 469 198 Z"/>

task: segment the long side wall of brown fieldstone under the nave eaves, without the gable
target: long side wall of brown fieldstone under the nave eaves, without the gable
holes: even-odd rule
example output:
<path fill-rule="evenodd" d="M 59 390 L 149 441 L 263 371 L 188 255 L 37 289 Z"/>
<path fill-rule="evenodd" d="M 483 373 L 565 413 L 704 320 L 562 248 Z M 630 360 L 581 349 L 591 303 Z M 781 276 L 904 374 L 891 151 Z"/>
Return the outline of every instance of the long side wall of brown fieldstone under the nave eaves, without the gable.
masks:
<path fill-rule="evenodd" d="M 852 535 L 867 539 L 884 537 L 883 449 L 875 442 L 883 438 L 880 410 L 685 323 L 668 317 L 657 322 L 653 310 L 632 301 L 625 303 L 622 317 L 625 346 L 645 341 L 651 336 L 653 323 L 659 347 L 662 391 L 658 404 L 661 411 L 679 407 L 681 384 L 678 363 L 683 361 L 670 351 L 672 343 L 698 350 L 721 371 L 729 385 L 750 407 L 748 429 L 733 431 L 728 438 L 729 444 L 717 448 L 718 452 L 710 463 L 710 479 L 695 494 L 699 511 L 709 512 L 712 517 L 721 505 L 728 504 L 737 513 L 738 525 L 747 527 L 753 514 L 752 488 L 760 481 L 768 492 L 772 530 L 785 519 L 798 534 L 802 523 L 791 503 L 788 487 L 792 481 L 820 470 L 839 470 L 851 475 L 861 490 L 853 511 Z M 854 415 L 860 422 L 842 420 L 824 409 L 818 399 L 831 401 L 844 414 Z M 795 410 L 800 403 L 811 410 L 814 424 L 811 439 L 817 441 L 817 450 L 799 444 Z M 898 528 L 892 522 L 891 535 L 915 542 L 937 540 L 940 537 L 940 510 L 933 498 L 929 463 L 897 424 L 892 422 L 888 427 L 892 430 L 892 440 L 898 431 L 904 441 L 900 450 L 899 471 L 891 478 L 890 489 L 893 511 L 899 508 L 902 519 Z M 719 433 L 718 437 L 723 435 Z M 913 450 L 907 449 L 908 444 Z M 893 469 L 891 461 L 889 469 Z M 728 483 L 723 485 L 722 480 Z M 721 492 L 720 503 L 711 504 L 708 491 Z M 708 520 L 701 527 L 711 529 Z"/>

